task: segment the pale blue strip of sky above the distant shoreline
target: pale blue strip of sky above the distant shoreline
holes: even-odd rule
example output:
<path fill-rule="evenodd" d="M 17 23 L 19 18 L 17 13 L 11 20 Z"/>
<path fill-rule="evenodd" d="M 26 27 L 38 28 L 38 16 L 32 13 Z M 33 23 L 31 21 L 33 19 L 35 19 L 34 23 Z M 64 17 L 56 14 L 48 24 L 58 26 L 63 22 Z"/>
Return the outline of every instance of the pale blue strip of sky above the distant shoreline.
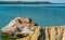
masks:
<path fill-rule="evenodd" d="M 65 0 L 1 0 L 1 1 L 49 1 L 52 3 L 65 3 Z"/>

